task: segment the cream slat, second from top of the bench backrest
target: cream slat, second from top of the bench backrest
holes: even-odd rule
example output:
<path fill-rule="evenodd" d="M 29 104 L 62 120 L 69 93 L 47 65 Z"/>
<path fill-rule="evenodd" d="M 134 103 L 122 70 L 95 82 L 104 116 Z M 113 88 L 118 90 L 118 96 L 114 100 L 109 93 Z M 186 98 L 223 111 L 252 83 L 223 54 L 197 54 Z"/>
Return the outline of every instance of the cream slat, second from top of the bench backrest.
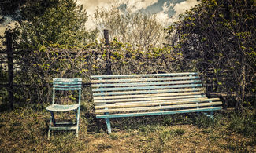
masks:
<path fill-rule="evenodd" d="M 91 80 L 91 83 L 109 83 L 109 82 L 152 82 L 152 81 L 171 81 L 171 80 L 187 80 L 199 79 L 198 76 L 192 77 L 171 77 L 171 78 L 129 78 L 129 79 L 106 79 L 106 80 Z"/>

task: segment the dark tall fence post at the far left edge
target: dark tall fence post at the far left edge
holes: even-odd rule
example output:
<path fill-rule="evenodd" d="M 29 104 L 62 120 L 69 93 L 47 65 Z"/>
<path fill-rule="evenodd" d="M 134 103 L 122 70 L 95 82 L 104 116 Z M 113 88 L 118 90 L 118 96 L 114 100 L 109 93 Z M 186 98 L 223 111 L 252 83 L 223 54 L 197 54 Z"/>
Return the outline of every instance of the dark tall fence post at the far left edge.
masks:
<path fill-rule="evenodd" d="M 11 109 L 13 109 L 13 48 L 12 34 L 9 30 L 6 31 L 6 47 L 8 60 L 8 98 Z"/>

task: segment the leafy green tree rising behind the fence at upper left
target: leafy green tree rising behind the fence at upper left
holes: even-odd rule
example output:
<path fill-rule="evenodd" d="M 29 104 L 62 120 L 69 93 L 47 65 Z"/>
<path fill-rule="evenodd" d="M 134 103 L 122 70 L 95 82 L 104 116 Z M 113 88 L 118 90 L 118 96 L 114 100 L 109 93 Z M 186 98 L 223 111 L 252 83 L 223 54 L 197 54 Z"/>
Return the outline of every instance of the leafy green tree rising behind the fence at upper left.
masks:
<path fill-rule="evenodd" d="M 20 12 L 17 25 L 20 46 L 39 49 L 59 44 L 84 46 L 93 38 L 85 29 L 87 13 L 74 0 L 39 0 L 27 3 Z"/>

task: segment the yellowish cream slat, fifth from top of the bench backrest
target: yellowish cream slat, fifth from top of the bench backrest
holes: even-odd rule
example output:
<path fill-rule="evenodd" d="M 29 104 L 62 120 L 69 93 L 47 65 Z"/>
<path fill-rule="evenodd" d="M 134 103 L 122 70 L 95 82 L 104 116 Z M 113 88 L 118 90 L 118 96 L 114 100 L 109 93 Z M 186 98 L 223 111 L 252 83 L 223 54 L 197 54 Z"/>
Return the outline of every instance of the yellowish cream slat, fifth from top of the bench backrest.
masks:
<path fill-rule="evenodd" d="M 198 92 L 203 91 L 203 88 L 184 88 L 184 89 L 151 89 L 151 90 L 136 90 L 136 91 L 123 91 L 123 92 L 102 92 L 93 93 L 94 97 L 102 97 L 109 95 L 129 95 L 129 94 L 144 94 L 144 93 L 180 93 L 180 92 Z"/>

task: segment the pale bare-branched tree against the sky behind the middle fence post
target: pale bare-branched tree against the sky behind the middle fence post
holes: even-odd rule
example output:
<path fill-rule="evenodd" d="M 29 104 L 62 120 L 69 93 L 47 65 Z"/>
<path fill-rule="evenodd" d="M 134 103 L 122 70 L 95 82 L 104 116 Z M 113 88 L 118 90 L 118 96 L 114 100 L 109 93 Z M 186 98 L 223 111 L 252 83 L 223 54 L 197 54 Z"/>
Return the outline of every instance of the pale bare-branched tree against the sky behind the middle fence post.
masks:
<path fill-rule="evenodd" d="M 95 24 L 99 31 L 108 29 L 110 37 L 128 42 L 138 49 L 161 46 L 164 28 L 153 14 L 132 13 L 129 9 L 97 9 Z"/>

